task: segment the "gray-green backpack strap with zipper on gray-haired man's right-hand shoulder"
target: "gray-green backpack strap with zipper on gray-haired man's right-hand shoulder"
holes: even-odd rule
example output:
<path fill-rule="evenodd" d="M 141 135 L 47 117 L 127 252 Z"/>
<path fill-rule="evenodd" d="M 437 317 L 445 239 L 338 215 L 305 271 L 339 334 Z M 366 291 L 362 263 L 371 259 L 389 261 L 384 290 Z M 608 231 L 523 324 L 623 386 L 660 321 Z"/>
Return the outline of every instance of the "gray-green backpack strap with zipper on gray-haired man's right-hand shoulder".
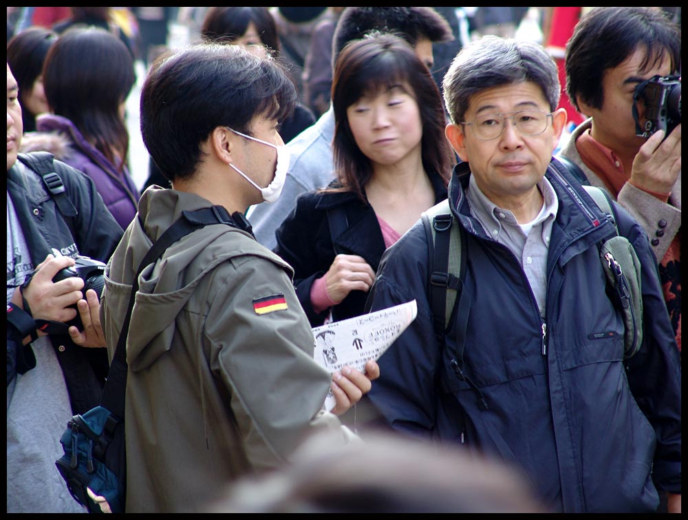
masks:
<path fill-rule="evenodd" d="M 627 238 L 619 235 L 616 212 L 602 189 L 583 186 L 602 211 L 612 216 L 616 236 L 600 245 L 600 259 L 607 281 L 621 302 L 624 322 L 624 357 L 632 357 L 643 344 L 643 287 L 641 262 Z"/>

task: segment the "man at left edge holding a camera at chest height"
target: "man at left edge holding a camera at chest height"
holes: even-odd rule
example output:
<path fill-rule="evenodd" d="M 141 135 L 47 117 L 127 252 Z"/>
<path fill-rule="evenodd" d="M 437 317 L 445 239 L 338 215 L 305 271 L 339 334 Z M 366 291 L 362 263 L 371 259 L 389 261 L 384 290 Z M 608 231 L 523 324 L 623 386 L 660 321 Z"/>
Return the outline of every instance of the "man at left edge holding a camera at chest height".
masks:
<path fill-rule="evenodd" d="M 19 155 L 18 95 L 8 65 L 7 512 L 85 512 L 55 467 L 58 434 L 100 404 L 107 351 L 83 348 L 105 342 L 99 293 L 86 291 L 94 271 L 81 264 L 107 261 L 122 228 L 89 177 L 59 161 L 43 177 L 39 154 Z"/>

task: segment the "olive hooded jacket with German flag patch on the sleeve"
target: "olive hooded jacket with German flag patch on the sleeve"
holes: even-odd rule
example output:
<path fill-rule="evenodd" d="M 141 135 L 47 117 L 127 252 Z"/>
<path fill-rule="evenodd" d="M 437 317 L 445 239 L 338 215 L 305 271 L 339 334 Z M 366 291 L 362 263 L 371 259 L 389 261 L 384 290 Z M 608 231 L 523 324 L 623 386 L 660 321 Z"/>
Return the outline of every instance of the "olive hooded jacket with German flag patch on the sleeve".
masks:
<path fill-rule="evenodd" d="M 106 271 L 110 356 L 145 253 L 182 211 L 209 206 L 144 192 Z M 291 274 L 226 225 L 184 236 L 144 269 L 127 338 L 127 512 L 207 510 L 230 481 L 283 464 L 313 428 L 351 435 L 321 411 L 331 375 L 313 360 Z"/>

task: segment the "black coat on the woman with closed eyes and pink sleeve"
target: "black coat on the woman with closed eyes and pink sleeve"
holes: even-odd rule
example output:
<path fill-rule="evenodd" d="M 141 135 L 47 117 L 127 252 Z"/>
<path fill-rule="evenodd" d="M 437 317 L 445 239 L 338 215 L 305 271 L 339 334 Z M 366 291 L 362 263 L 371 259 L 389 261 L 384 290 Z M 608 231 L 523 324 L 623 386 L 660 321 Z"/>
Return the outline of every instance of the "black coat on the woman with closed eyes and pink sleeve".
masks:
<path fill-rule="evenodd" d="M 438 175 L 430 176 L 436 203 L 447 198 L 447 187 Z M 333 181 L 330 187 L 339 187 Z M 347 228 L 332 240 L 327 211 L 342 208 Z M 320 326 L 329 309 L 316 313 L 310 300 L 313 282 L 330 269 L 337 253 L 358 255 L 377 271 L 385 252 L 377 216 L 367 200 L 351 191 L 309 191 L 297 198 L 297 204 L 276 232 L 277 253 L 294 268 L 294 288 L 308 316 L 311 326 Z M 335 252 L 336 248 L 336 252 Z M 345 320 L 364 313 L 367 291 L 352 291 L 332 309 L 334 321 Z"/>

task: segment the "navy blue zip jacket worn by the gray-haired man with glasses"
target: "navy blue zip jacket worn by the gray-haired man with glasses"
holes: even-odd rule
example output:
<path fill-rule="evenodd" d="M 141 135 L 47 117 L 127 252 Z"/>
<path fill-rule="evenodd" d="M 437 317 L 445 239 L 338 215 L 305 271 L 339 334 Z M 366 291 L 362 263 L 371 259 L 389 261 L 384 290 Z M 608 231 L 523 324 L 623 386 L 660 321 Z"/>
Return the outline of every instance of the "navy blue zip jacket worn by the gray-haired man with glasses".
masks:
<path fill-rule="evenodd" d="M 396 430 L 464 443 L 515 464 L 552 510 L 656 510 L 657 489 L 680 492 L 681 375 L 645 231 L 616 205 L 620 232 L 643 268 L 643 346 L 623 362 L 623 320 L 605 294 L 597 247 L 614 234 L 608 216 L 574 178 L 550 165 L 559 211 L 545 324 L 517 258 L 471 217 L 469 175 L 469 165 L 458 165 L 449 186 L 451 209 L 466 230 L 468 379 L 450 364 L 461 361 L 456 331 L 444 351 L 435 340 L 428 244 L 416 225 L 383 256 L 367 308 L 415 298 L 418 317 L 380 358 L 367 399 Z"/>

